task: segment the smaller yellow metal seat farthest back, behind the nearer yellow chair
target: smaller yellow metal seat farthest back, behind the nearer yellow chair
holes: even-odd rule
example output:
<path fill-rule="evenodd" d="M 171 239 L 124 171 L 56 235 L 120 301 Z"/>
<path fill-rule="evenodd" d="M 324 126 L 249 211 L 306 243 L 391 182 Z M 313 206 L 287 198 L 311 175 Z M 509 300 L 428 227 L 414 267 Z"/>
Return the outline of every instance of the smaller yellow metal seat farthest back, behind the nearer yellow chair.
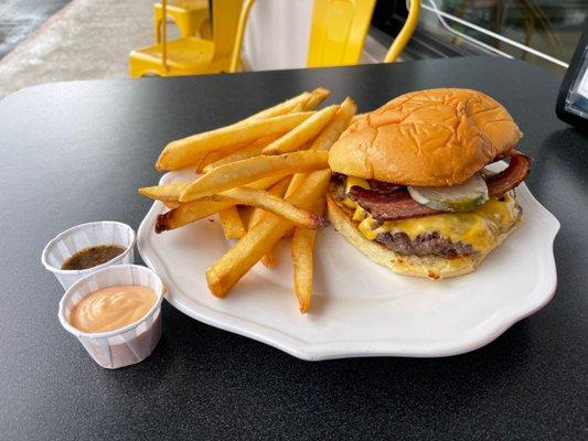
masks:
<path fill-rule="evenodd" d="M 201 31 L 206 29 L 209 21 L 209 0 L 168 0 L 165 17 L 175 23 L 181 37 L 205 37 Z M 156 43 L 161 43 L 162 18 L 161 3 L 153 4 Z"/>

